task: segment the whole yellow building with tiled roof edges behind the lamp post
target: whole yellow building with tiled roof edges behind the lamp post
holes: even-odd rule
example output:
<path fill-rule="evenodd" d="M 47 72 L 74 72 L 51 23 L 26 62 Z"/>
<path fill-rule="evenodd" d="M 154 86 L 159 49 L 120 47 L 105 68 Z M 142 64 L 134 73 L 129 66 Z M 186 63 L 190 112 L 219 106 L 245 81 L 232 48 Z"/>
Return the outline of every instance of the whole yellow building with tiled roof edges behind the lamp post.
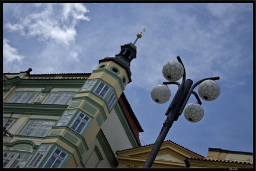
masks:
<path fill-rule="evenodd" d="M 143 167 L 153 144 L 117 151 L 119 168 Z M 180 146 L 173 141 L 164 141 L 152 168 L 252 168 L 253 154 L 209 148 L 207 157 Z"/>

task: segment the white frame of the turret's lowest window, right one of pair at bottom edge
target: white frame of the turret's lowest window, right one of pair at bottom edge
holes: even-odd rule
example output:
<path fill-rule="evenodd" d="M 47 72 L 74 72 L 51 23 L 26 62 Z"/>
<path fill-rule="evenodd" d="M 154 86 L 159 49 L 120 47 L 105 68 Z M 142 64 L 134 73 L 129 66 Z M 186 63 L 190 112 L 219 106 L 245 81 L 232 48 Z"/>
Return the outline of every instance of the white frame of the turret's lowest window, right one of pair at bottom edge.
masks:
<path fill-rule="evenodd" d="M 59 150 L 59 153 L 56 153 L 56 151 Z M 63 155 L 65 156 L 63 156 Z M 56 147 L 55 150 L 53 150 L 53 153 L 51 154 L 51 156 L 49 157 L 49 159 L 47 160 L 47 162 L 44 164 L 44 168 L 59 168 L 63 161 L 66 159 L 66 157 L 68 156 L 68 153 L 62 149 L 60 149 L 59 147 Z M 49 163 L 51 162 L 51 160 L 54 160 L 53 163 Z M 54 164 L 57 162 L 57 160 L 60 161 L 59 165 L 57 167 L 53 167 Z M 50 167 L 46 167 L 46 165 L 50 165 Z"/>

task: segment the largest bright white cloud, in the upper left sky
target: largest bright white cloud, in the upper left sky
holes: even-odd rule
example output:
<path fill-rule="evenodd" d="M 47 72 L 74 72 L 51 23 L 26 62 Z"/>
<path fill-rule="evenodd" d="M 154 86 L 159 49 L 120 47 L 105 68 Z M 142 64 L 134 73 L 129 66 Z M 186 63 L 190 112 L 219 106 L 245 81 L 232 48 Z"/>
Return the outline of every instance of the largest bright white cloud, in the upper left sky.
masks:
<path fill-rule="evenodd" d="M 9 31 L 19 31 L 23 36 L 69 45 L 75 41 L 77 22 L 79 20 L 89 21 L 89 18 L 85 16 L 85 13 L 89 11 L 83 4 L 60 4 L 62 12 L 59 13 L 56 5 L 58 4 L 36 4 L 34 7 L 42 8 L 41 11 L 20 18 L 17 23 L 8 22 L 5 27 Z"/>

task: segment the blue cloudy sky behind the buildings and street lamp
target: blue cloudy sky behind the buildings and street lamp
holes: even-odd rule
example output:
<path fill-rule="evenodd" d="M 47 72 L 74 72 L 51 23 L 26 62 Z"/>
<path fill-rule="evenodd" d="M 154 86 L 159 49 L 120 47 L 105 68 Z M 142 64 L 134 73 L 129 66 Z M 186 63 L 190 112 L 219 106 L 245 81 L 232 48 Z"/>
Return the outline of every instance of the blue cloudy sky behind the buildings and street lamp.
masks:
<path fill-rule="evenodd" d="M 182 113 L 165 140 L 207 156 L 208 148 L 253 152 L 253 4 L 85 3 L 3 4 L 3 72 L 91 73 L 98 61 L 136 42 L 126 95 L 144 132 L 155 143 L 171 98 L 156 104 L 153 86 L 166 82 L 162 67 L 181 57 L 186 79 L 219 76 L 220 96 L 204 101 L 193 123 Z M 178 80 L 181 83 L 181 80 Z M 194 89 L 198 92 L 198 86 Z M 187 104 L 196 102 L 191 95 Z M 115 151 L 114 151 L 115 153 Z"/>

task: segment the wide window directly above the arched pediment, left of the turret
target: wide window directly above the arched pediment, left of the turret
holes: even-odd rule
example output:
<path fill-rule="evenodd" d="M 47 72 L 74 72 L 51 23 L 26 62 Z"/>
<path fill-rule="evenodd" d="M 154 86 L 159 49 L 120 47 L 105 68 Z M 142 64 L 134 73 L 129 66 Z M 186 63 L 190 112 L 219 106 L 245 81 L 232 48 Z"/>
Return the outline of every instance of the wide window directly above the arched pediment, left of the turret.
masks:
<path fill-rule="evenodd" d="M 20 135 L 45 137 L 54 124 L 55 121 L 30 120 Z"/>

